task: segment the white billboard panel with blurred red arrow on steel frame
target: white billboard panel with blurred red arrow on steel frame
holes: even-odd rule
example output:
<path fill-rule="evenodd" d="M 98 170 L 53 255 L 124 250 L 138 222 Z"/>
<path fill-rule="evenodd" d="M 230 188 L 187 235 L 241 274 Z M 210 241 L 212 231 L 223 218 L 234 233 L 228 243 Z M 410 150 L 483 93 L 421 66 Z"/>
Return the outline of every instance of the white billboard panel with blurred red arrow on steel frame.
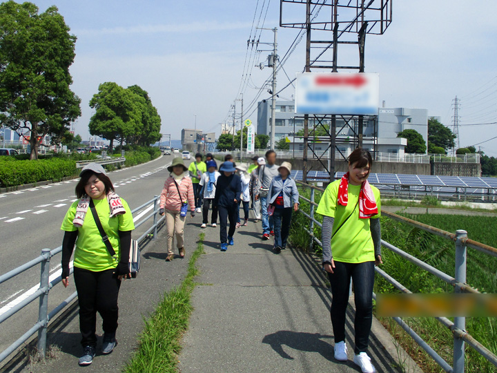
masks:
<path fill-rule="evenodd" d="M 295 113 L 378 115 L 376 73 L 299 73 Z"/>

